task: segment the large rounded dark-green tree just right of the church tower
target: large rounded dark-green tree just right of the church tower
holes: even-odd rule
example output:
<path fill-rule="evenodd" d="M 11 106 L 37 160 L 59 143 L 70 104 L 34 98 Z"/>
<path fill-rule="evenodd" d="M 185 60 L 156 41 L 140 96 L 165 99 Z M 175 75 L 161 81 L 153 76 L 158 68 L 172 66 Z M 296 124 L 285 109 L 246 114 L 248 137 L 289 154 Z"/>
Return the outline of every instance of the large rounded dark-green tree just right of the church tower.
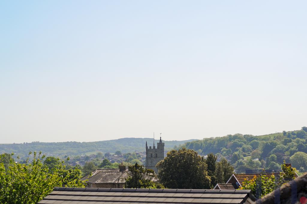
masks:
<path fill-rule="evenodd" d="M 172 150 L 156 165 L 158 178 L 167 188 L 208 189 L 211 179 L 203 157 L 196 151 Z"/>

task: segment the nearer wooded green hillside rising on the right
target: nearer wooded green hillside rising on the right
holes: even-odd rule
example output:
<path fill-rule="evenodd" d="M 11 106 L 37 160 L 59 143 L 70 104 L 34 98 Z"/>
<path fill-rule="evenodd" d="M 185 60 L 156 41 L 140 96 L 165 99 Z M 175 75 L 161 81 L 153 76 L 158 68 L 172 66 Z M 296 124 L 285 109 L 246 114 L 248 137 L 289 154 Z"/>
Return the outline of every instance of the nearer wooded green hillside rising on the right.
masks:
<path fill-rule="evenodd" d="M 214 153 L 225 157 L 237 172 L 246 169 L 278 170 L 285 160 L 297 170 L 307 171 L 307 127 L 270 135 L 227 135 L 187 142 L 186 147 L 200 155 Z"/>

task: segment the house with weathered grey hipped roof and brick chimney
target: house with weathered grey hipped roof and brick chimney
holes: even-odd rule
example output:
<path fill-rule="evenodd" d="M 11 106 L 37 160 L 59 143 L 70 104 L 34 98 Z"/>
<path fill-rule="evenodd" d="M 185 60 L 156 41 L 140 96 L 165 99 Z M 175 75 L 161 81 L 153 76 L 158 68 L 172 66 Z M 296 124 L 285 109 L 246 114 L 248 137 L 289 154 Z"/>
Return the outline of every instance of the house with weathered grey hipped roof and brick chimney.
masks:
<path fill-rule="evenodd" d="M 119 165 L 118 169 L 96 169 L 91 176 L 86 175 L 81 181 L 86 181 L 88 188 L 123 188 L 128 178 L 128 169 Z"/>

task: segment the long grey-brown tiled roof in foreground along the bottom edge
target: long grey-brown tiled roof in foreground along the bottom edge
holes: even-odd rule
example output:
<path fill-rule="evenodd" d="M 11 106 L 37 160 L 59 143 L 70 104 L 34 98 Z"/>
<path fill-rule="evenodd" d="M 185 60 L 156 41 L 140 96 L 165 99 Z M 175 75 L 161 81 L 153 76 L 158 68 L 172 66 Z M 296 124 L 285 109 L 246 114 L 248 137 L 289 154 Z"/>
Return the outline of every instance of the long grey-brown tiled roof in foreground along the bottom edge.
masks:
<path fill-rule="evenodd" d="M 45 204 L 146 204 L 229 203 L 250 204 L 250 190 L 120 189 L 56 187 L 38 203 Z"/>

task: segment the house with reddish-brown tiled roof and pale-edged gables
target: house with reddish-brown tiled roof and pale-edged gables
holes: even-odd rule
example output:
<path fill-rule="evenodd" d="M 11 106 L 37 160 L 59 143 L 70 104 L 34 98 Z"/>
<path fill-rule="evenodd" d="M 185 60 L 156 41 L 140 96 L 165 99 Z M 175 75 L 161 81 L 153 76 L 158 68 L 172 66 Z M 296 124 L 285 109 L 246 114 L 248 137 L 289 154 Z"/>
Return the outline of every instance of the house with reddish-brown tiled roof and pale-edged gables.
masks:
<path fill-rule="evenodd" d="M 265 174 L 232 174 L 231 177 L 228 179 L 226 183 L 218 183 L 213 188 L 215 190 L 235 190 L 239 189 L 242 186 L 242 183 L 245 179 L 253 179 L 255 176 L 260 175 L 266 175 L 267 177 L 270 177 L 271 175 L 274 175 L 276 178 L 280 176 L 279 173 L 265 173 Z M 295 178 L 297 178 L 298 175 L 295 174 Z"/>

